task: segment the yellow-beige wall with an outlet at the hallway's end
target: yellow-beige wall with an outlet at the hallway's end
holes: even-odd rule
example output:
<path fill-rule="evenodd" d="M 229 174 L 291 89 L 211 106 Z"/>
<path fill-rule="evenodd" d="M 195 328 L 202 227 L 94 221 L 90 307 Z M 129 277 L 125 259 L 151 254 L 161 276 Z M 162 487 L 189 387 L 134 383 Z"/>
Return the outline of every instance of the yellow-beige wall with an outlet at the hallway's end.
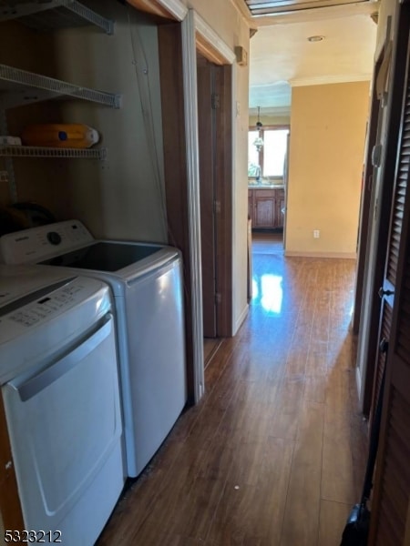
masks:
<path fill-rule="evenodd" d="M 368 82 L 293 87 L 287 255 L 354 257 L 368 102 Z"/>

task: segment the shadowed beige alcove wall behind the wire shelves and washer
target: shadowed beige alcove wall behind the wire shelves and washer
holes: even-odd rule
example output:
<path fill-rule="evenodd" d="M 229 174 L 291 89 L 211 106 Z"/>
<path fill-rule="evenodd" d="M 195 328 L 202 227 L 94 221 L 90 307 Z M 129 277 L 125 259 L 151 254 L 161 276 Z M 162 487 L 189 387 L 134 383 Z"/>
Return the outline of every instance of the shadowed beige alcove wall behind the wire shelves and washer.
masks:
<path fill-rule="evenodd" d="M 92 27 L 56 33 L 58 77 L 118 93 L 122 104 L 65 104 L 66 120 L 100 131 L 108 158 L 67 165 L 59 214 L 84 219 L 97 237 L 165 242 L 157 25 L 129 6 L 97 4 L 115 20 L 114 35 Z"/>

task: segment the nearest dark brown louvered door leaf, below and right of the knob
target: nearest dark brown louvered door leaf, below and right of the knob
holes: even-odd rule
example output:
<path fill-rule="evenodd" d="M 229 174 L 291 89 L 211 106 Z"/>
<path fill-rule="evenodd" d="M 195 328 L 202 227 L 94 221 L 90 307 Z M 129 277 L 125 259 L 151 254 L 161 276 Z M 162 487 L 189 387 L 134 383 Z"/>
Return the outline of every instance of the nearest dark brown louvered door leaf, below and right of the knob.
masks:
<path fill-rule="evenodd" d="M 409 196 L 396 273 L 384 417 L 374 480 L 370 545 L 410 544 L 410 234 Z"/>

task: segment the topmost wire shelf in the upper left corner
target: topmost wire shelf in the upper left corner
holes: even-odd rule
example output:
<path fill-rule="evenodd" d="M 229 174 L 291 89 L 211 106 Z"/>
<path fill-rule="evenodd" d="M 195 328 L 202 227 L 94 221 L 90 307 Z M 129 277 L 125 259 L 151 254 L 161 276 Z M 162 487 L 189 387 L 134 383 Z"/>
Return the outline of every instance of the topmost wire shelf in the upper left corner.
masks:
<path fill-rule="evenodd" d="M 21 23 L 41 32 L 96 25 L 108 35 L 114 32 L 114 22 L 89 9 L 77 0 L 0 0 L 0 21 L 19 19 Z"/>

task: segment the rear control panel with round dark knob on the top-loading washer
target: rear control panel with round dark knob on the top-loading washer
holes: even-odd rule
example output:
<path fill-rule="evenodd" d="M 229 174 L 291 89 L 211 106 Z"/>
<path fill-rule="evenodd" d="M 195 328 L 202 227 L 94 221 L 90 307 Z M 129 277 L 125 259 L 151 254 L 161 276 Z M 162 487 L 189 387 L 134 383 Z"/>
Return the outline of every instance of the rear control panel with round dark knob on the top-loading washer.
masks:
<path fill-rule="evenodd" d="M 30 227 L 0 238 L 0 262 L 36 264 L 47 258 L 82 248 L 94 241 L 79 220 Z"/>

